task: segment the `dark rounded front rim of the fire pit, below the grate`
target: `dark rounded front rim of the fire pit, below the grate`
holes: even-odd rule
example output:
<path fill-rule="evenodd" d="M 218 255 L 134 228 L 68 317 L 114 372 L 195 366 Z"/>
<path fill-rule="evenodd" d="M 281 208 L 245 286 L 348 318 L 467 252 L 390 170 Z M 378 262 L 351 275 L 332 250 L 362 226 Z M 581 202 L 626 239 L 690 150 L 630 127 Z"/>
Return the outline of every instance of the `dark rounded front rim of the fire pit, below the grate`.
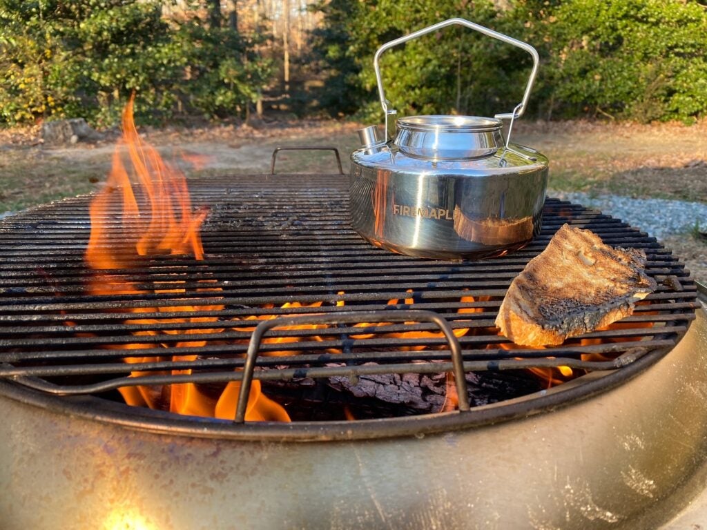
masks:
<path fill-rule="evenodd" d="M 180 416 L 142 407 L 130 407 L 94 396 L 52 396 L 0 379 L 0 395 L 25 404 L 62 411 L 73 416 L 113 423 L 125 428 L 192 437 L 277 442 L 326 442 L 432 435 L 451 430 L 481 428 L 485 425 L 549 413 L 602 393 L 629 379 L 663 358 L 671 348 L 657 348 L 631 365 L 611 373 L 595 372 L 513 401 L 426 416 L 327 422 L 248 422 L 235 423 L 214 418 Z M 597 377 L 599 375 L 600 377 Z M 585 379 L 586 378 L 586 379 Z"/>

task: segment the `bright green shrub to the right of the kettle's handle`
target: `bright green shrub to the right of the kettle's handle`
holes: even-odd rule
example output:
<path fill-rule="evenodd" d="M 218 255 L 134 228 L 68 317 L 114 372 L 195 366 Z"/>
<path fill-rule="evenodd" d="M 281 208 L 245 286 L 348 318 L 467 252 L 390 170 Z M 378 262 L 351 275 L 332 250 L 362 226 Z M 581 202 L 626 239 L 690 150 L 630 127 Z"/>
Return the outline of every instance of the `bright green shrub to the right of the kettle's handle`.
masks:
<path fill-rule="evenodd" d="M 542 37 L 556 111 L 641 122 L 707 114 L 707 11 L 695 1 L 568 0 L 534 12 L 529 4 L 516 16 Z"/>

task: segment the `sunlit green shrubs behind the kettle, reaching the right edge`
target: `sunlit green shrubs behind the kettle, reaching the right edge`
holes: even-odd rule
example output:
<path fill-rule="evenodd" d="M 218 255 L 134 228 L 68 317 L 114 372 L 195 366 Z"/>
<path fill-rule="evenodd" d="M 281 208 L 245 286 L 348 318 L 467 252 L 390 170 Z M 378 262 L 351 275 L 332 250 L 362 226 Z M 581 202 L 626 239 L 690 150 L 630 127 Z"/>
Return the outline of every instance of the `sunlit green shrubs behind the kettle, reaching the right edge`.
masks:
<path fill-rule="evenodd" d="M 542 57 L 529 114 L 597 114 L 691 122 L 707 116 L 707 9 L 696 0 L 332 0 L 312 42 L 332 112 L 378 112 L 375 49 L 460 16 L 530 42 Z M 402 114 L 509 112 L 522 97 L 525 52 L 465 28 L 445 28 L 386 52 L 387 99 Z"/>

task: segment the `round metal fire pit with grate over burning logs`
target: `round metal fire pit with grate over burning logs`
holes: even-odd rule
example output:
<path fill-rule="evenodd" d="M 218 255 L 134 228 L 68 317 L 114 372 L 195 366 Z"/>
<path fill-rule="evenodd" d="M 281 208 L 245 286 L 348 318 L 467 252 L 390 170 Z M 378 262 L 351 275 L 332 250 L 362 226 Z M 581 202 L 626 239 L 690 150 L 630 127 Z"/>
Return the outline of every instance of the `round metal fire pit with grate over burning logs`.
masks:
<path fill-rule="evenodd" d="M 519 252 L 404 257 L 351 230 L 347 189 L 341 175 L 194 181 L 204 259 L 112 269 L 100 293 L 87 197 L 4 220 L 6 528 L 655 528 L 684 505 L 707 455 L 707 322 L 670 251 L 548 199 Z M 514 348 L 498 306 L 563 223 L 644 249 L 659 288 L 611 329 Z M 479 394 L 506 373 L 537 387 Z M 368 395 L 356 408 L 381 374 L 401 388 L 456 377 L 437 378 L 424 410 Z M 124 404 L 168 385 L 223 413 Z M 260 400 L 293 421 L 249 419 Z"/>

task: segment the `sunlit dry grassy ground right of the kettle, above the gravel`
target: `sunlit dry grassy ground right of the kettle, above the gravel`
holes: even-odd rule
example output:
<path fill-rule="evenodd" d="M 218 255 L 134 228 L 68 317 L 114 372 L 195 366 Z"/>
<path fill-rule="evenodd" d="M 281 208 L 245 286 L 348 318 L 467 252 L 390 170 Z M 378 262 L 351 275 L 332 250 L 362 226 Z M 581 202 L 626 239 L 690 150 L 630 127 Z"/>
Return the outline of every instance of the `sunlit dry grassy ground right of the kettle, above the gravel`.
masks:
<path fill-rule="evenodd" d="M 707 202 L 707 124 L 522 124 L 516 139 L 550 160 L 563 192 Z"/>

